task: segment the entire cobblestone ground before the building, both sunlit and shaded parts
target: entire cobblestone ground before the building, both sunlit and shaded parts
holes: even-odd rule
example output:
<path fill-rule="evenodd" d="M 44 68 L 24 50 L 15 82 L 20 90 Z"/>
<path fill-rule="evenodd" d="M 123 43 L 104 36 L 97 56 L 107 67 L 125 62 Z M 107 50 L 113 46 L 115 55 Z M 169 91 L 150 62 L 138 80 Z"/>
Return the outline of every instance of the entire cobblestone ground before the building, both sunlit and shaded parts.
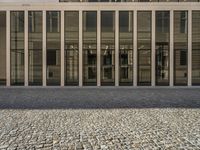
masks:
<path fill-rule="evenodd" d="M 0 150 L 198 150 L 199 101 L 198 88 L 0 88 Z"/>

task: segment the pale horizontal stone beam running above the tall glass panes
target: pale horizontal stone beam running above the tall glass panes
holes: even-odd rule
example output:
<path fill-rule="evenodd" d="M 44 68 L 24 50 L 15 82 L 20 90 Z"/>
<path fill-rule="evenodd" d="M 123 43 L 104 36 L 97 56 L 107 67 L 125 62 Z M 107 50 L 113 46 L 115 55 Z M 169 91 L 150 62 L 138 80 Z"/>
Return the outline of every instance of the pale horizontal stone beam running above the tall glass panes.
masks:
<path fill-rule="evenodd" d="M 199 10 L 199 2 L 0 3 L 0 10 Z"/>

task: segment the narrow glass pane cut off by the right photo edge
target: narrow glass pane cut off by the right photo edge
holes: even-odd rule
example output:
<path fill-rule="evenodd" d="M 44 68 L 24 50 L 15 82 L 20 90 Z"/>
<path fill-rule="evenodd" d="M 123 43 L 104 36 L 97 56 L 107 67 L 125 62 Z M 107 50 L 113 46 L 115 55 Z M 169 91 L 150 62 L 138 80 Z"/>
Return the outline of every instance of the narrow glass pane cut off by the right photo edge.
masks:
<path fill-rule="evenodd" d="M 192 84 L 200 85 L 200 11 L 192 12 Z"/>

